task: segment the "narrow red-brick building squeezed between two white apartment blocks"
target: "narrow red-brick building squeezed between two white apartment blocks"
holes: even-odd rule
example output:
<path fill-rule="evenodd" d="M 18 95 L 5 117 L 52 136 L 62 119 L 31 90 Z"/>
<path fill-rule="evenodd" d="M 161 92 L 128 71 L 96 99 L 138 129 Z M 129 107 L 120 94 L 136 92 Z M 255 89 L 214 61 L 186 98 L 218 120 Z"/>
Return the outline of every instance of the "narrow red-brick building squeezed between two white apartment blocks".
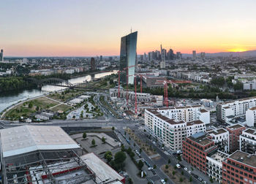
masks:
<path fill-rule="evenodd" d="M 229 150 L 230 152 L 234 152 L 239 149 L 239 136 L 246 129 L 245 126 L 241 124 L 234 124 L 232 126 L 226 127 L 229 132 Z"/>

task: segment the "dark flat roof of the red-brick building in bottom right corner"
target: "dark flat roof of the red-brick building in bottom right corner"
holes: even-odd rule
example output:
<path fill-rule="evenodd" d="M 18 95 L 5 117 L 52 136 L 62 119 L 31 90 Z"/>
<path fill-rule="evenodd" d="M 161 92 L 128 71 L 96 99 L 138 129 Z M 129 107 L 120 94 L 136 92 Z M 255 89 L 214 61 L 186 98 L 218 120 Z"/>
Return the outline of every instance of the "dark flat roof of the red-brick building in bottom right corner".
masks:
<path fill-rule="evenodd" d="M 245 153 L 243 151 L 237 150 L 235 153 L 231 154 L 228 158 L 256 168 L 255 154 L 251 155 L 249 153 Z"/>

